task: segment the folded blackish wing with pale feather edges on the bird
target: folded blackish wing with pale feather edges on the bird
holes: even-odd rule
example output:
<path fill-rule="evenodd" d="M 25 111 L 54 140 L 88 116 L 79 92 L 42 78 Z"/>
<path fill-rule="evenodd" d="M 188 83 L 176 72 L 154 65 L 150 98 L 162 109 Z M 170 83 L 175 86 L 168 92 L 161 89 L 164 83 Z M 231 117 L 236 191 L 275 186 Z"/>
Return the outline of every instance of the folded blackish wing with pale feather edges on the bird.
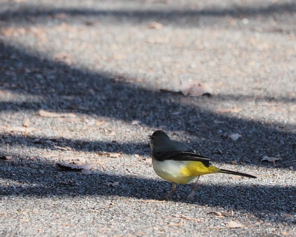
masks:
<path fill-rule="evenodd" d="M 200 153 L 194 150 L 186 150 L 186 151 L 161 151 L 155 152 L 152 151 L 152 155 L 155 159 L 159 161 L 164 160 L 178 160 L 178 161 L 201 161 L 204 162 L 205 165 L 210 165 L 210 161 L 207 157 L 204 157 Z"/>

